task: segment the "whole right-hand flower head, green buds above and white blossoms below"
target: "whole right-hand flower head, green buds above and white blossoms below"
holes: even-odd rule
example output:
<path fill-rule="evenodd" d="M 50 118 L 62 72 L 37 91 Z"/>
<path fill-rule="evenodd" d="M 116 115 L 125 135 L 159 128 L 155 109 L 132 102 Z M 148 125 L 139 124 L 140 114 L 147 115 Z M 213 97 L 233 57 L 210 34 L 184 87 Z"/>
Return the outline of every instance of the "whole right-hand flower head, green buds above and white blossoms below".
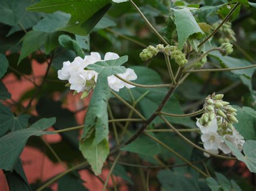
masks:
<path fill-rule="evenodd" d="M 233 123 L 238 122 L 234 117 L 237 110 L 221 98 L 222 94 L 213 94 L 206 98 L 205 113 L 197 120 L 197 126 L 202 133 L 201 140 L 205 150 L 218 154 L 220 149 L 224 154 L 230 154 L 232 151 L 223 139 L 231 142 L 240 151 L 245 140 L 233 126 Z M 210 157 L 207 153 L 204 154 Z"/>

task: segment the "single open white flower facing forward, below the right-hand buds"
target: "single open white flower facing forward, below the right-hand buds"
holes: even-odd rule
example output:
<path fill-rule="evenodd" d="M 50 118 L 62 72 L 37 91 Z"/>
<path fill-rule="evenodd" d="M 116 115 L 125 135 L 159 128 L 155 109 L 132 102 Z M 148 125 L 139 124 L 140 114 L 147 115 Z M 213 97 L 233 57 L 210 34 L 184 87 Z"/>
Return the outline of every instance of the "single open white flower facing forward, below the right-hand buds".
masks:
<path fill-rule="evenodd" d="M 203 141 L 204 148 L 206 150 L 217 150 L 221 141 L 221 137 L 218 135 L 217 132 L 209 131 L 201 135 L 201 140 Z"/>

